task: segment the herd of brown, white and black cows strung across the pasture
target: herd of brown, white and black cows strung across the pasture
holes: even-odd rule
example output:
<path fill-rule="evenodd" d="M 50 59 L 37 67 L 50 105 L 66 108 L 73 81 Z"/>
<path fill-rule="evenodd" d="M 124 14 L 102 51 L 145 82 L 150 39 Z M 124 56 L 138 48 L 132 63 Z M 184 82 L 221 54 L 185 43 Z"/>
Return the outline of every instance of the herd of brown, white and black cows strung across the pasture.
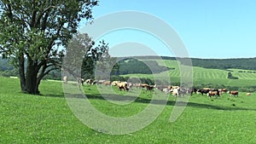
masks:
<path fill-rule="evenodd" d="M 120 82 L 120 81 L 108 81 L 108 80 L 92 80 L 92 79 L 86 79 L 83 78 L 78 79 L 79 84 L 103 84 L 108 86 L 116 86 L 119 90 L 129 90 L 131 88 L 137 88 L 137 89 L 146 89 L 146 90 L 154 90 L 158 89 L 162 92 L 164 92 L 166 95 L 169 95 L 170 93 L 174 96 L 181 96 L 181 95 L 193 95 L 193 94 L 206 94 L 209 97 L 212 96 L 220 96 L 222 94 L 230 94 L 233 96 L 238 96 L 238 91 L 228 91 L 228 89 L 210 89 L 210 88 L 203 88 L 203 89 L 187 89 L 180 86 L 171 86 L 171 85 L 149 85 L 149 84 L 131 84 L 128 82 Z M 247 95 L 251 95 L 250 93 L 247 93 Z"/>

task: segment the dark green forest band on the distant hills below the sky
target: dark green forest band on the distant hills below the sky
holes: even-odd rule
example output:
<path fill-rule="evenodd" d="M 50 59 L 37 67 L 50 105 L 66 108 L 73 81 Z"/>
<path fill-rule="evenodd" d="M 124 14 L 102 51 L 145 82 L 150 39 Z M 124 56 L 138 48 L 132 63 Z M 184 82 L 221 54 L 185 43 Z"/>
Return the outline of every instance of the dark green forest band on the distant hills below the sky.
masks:
<path fill-rule="evenodd" d="M 137 59 L 140 60 L 137 60 Z M 140 56 L 131 59 L 119 60 L 119 69 L 113 69 L 111 75 L 125 75 L 131 73 L 143 73 L 151 74 L 170 70 L 165 66 L 159 66 L 154 58 L 159 59 L 158 56 Z M 163 60 L 176 60 L 174 57 L 162 56 Z M 185 58 L 184 58 L 185 59 Z M 237 68 L 243 70 L 256 70 L 256 58 L 244 58 L 244 59 L 196 59 L 192 58 L 193 66 L 200 66 L 204 68 L 214 69 L 230 69 Z M 239 71 L 247 72 L 247 71 Z M 250 71 L 248 71 L 250 72 Z M 0 57 L 0 75 L 18 76 L 18 72 L 15 71 L 14 66 L 9 64 L 9 61 Z M 83 77 L 83 76 L 82 76 Z M 50 72 L 45 78 L 61 79 L 61 71 Z M 232 76 L 230 75 L 230 78 Z"/>

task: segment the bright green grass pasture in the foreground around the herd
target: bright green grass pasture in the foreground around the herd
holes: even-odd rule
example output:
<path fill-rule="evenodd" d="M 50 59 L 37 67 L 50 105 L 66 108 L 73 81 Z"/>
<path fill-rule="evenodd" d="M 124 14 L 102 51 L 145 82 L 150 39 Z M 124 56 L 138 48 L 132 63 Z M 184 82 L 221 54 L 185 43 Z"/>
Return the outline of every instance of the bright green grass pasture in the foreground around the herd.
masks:
<path fill-rule="evenodd" d="M 169 118 L 177 98 L 169 96 L 160 116 L 143 130 L 107 135 L 91 130 L 75 117 L 60 82 L 42 81 L 42 95 L 20 93 L 19 80 L 15 78 L 0 77 L 0 84 L 0 143 L 256 143 L 255 94 L 225 94 L 219 98 L 192 95 L 174 123 Z M 143 90 L 135 101 L 116 105 L 104 100 L 96 86 L 83 88 L 94 107 L 121 118 L 141 112 L 153 95 Z M 114 91 L 118 94 L 114 96 L 126 95 Z"/>

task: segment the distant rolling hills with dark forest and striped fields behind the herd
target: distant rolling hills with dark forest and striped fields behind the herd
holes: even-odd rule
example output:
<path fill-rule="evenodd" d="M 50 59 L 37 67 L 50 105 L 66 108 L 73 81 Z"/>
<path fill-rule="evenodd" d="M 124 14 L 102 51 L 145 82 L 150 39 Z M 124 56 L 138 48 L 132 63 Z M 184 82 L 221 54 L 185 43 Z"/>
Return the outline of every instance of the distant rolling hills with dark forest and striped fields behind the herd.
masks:
<path fill-rule="evenodd" d="M 170 77 L 172 84 L 180 82 L 179 66 L 184 66 L 174 57 L 139 56 L 119 62 L 119 73 L 123 77 L 158 79 L 165 84 Z M 186 58 L 183 58 L 186 59 Z M 232 87 L 256 87 L 256 58 L 245 59 L 195 59 L 193 64 L 193 83 L 218 84 Z M 7 60 L 0 58 L 0 68 L 9 66 Z M 149 68 L 148 68 L 149 67 Z M 6 68 L 1 69 L 6 70 Z M 228 78 L 228 72 L 238 79 Z M 151 73 L 154 73 L 153 75 Z M 56 76 L 60 76 L 55 74 Z M 183 77 L 189 72 L 183 72 Z M 52 78 L 52 77 L 47 77 Z"/>

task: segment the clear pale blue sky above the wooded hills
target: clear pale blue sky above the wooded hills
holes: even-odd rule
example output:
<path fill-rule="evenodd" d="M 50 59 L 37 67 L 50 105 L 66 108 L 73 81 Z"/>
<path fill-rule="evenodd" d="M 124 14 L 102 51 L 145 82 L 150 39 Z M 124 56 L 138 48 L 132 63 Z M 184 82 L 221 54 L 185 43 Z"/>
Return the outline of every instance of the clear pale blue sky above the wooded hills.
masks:
<path fill-rule="evenodd" d="M 253 0 L 101 0 L 93 14 L 96 19 L 124 10 L 153 14 L 177 32 L 190 57 L 247 58 L 256 57 L 255 5 Z M 115 31 L 101 38 L 108 41 L 110 49 L 119 49 L 120 43 L 137 42 L 138 47 L 147 45 L 157 55 L 175 56 L 164 43 L 145 32 Z"/>

